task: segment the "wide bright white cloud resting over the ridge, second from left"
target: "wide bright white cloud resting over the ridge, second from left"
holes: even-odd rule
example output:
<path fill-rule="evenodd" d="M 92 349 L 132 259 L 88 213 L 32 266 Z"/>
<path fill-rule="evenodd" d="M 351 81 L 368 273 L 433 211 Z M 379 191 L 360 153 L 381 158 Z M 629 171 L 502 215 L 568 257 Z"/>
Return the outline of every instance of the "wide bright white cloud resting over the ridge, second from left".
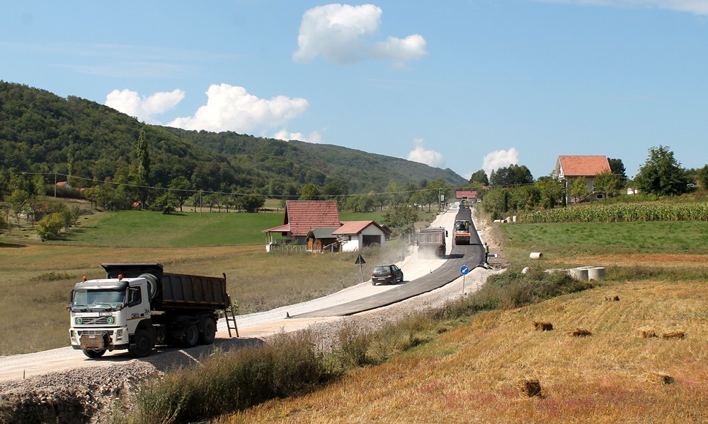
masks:
<path fill-rule="evenodd" d="M 257 129 L 280 126 L 302 114 L 309 102 L 303 98 L 279 95 L 265 100 L 251 95 L 246 88 L 212 84 L 207 90 L 207 104 L 193 117 L 177 118 L 169 126 L 207 131 L 253 133 Z"/>

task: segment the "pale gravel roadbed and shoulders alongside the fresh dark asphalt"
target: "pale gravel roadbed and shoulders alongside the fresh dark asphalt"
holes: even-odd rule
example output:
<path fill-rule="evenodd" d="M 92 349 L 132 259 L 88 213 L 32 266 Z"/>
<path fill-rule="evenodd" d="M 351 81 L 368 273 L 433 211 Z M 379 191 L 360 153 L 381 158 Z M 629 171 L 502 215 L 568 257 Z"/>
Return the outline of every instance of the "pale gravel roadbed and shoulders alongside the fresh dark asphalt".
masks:
<path fill-rule="evenodd" d="M 432 226 L 452 229 L 457 209 L 438 215 Z M 481 224 L 481 225 L 480 225 Z M 487 240 L 486 226 L 475 221 L 482 241 Z M 450 236 L 452 235 L 452 231 Z M 447 241 L 450 253 L 452 240 Z M 406 281 L 430 273 L 445 262 L 444 259 L 419 259 L 412 247 L 399 266 L 404 270 Z M 467 295 L 479 288 L 493 270 L 477 268 L 466 277 L 464 289 Z M 22 411 L 41 411 L 44 420 L 57 423 L 103 423 L 110 420 L 110 407 L 116 399 L 130 395 L 130 390 L 149 377 L 161 375 L 174 367 L 190 366 L 199 358 L 208 355 L 215 347 L 229 350 L 253 343 L 266 343 L 269 336 L 282 331 L 307 329 L 320 340 L 321 348 L 333 344 L 339 329 L 345 326 L 375 331 L 382 326 L 408 317 L 412 313 L 444 305 L 461 298 L 463 278 L 444 285 L 429 293 L 398 302 L 394 305 L 370 310 L 348 317 L 318 317 L 307 319 L 287 318 L 325 307 L 338 305 L 353 299 L 365 298 L 390 290 L 396 285 L 372 285 L 370 281 L 354 285 L 323 298 L 280 307 L 267 312 L 258 312 L 236 317 L 239 338 L 229 338 L 226 323 L 218 324 L 215 346 L 198 346 L 187 350 L 159 348 L 148 358 L 133 359 L 125 352 L 106 353 L 100 360 L 89 360 L 81 351 L 57 348 L 50 351 L 0 357 L 0 406 L 2 401 L 16 410 L 13 421 L 3 416 L 6 408 L 0 408 L 0 422 L 21 423 Z M 26 415 L 25 415 L 26 416 Z"/>

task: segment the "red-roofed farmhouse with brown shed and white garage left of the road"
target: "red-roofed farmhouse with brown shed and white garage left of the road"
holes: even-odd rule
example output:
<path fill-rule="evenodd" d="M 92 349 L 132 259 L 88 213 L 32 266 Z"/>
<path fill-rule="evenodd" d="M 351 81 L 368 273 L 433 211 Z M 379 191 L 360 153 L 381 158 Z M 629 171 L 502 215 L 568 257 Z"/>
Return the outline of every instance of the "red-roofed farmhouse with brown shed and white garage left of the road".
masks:
<path fill-rule="evenodd" d="M 307 245 L 311 251 L 321 249 L 347 251 L 367 245 L 383 245 L 391 232 L 375 221 L 339 219 L 336 201 L 288 200 L 282 225 L 263 230 L 267 234 L 266 251 L 279 245 Z"/>

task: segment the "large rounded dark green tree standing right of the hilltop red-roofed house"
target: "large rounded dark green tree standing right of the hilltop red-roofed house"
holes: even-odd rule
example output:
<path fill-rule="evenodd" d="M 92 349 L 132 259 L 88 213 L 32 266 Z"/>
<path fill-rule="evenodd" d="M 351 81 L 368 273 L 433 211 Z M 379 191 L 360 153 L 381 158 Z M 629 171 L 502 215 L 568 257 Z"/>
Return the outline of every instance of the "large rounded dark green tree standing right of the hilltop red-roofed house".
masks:
<path fill-rule="evenodd" d="M 639 192 L 666 196 L 687 192 L 690 180 L 668 147 L 649 148 L 649 158 L 639 167 L 634 185 Z"/>

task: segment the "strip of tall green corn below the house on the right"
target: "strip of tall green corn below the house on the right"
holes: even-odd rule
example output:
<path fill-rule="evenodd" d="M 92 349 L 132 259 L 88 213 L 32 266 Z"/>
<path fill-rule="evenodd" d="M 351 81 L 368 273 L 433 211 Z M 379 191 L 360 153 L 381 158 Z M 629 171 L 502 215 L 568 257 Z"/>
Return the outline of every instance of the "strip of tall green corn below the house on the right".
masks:
<path fill-rule="evenodd" d="M 531 211 L 520 215 L 520 222 L 523 223 L 618 223 L 679 220 L 708 221 L 708 203 L 571 206 Z"/>

